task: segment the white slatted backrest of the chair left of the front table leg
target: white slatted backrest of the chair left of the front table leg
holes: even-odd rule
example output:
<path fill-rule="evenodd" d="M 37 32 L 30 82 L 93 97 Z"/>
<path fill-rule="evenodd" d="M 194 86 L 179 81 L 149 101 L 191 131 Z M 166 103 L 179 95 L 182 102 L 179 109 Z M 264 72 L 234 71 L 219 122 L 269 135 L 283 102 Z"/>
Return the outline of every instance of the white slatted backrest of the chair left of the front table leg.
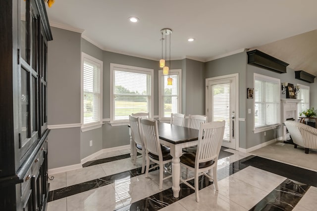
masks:
<path fill-rule="evenodd" d="M 141 119 L 141 128 L 147 151 L 159 156 L 160 159 L 162 159 L 159 143 L 158 122 L 156 120 Z"/>

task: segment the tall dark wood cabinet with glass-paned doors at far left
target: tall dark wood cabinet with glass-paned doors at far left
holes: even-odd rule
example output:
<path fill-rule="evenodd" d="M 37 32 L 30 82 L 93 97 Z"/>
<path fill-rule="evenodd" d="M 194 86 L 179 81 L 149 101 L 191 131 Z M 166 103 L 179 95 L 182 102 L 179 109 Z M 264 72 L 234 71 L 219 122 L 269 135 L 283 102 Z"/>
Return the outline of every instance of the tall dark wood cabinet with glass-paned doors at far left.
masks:
<path fill-rule="evenodd" d="M 44 0 L 0 1 L 0 208 L 46 209 L 47 47 Z"/>

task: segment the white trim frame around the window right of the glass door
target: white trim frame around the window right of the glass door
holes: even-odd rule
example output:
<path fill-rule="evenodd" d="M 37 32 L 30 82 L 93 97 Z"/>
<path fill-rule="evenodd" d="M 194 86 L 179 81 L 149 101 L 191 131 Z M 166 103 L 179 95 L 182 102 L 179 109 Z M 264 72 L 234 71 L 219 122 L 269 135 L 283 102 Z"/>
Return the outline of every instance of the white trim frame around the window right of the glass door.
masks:
<path fill-rule="evenodd" d="M 262 79 L 267 80 L 267 81 L 276 82 L 276 84 L 278 84 L 278 87 L 281 84 L 281 80 L 280 79 L 254 73 L 253 74 L 253 87 L 254 88 L 255 88 L 255 80 L 256 80 L 256 78 L 262 78 Z M 279 90 L 279 88 L 278 88 L 278 90 Z M 255 95 L 255 93 L 254 93 L 254 95 Z M 280 104 L 281 95 L 279 94 L 278 96 L 279 96 L 279 104 Z M 254 133 L 259 133 L 259 132 L 263 132 L 263 131 L 267 131 L 267 130 L 270 130 L 270 129 L 275 129 L 277 127 L 280 127 L 280 125 L 281 125 L 281 117 L 280 117 L 281 116 L 281 108 L 279 109 L 279 115 L 278 115 L 279 122 L 277 124 L 264 126 L 264 127 L 257 127 L 256 128 L 255 127 L 255 125 L 256 125 L 256 121 L 255 121 L 255 104 L 256 104 L 256 99 L 254 97 L 254 99 L 253 99 L 253 109 L 254 109 L 254 112 L 253 112 L 253 132 Z"/>

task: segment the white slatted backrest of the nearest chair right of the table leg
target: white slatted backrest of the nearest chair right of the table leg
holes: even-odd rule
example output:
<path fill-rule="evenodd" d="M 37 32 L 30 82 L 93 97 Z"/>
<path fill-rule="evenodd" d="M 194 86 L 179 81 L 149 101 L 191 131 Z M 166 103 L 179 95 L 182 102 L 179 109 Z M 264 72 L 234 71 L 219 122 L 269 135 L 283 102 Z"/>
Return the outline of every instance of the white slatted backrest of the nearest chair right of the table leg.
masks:
<path fill-rule="evenodd" d="M 199 130 L 196 164 L 218 160 L 225 122 L 211 122 L 202 124 Z"/>

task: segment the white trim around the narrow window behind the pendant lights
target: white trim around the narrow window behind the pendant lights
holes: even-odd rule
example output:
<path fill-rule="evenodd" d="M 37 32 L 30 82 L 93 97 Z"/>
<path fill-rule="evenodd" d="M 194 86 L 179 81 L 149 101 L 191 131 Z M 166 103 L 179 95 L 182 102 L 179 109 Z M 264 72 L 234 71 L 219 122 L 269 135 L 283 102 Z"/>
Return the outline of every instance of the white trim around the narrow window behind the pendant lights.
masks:
<path fill-rule="evenodd" d="M 172 69 L 170 70 L 170 75 L 178 75 L 178 112 L 182 113 L 182 69 Z M 162 76 L 163 76 L 163 70 L 159 70 L 159 120 L 170 120 L 170 117 L 164 117 L 163 116 L 163 107 L 164 107 L 164 101 L 162 100 Z"/>

